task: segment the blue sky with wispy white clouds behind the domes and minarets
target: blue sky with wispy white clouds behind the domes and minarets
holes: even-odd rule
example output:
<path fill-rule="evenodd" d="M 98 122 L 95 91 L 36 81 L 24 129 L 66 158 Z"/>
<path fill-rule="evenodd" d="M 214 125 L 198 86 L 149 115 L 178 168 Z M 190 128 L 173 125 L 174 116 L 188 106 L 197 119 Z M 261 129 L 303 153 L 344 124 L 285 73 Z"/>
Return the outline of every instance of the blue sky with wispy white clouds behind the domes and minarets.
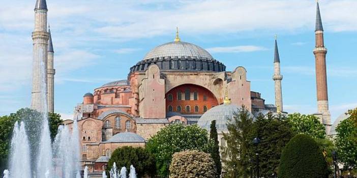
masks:
<path fill-rule="evenodd" d="M 29 106 L 35 0 L 0 7 L 0 115 Z M 55 112 L 64 119 L 86 92 L 126 79 L 155 46 L 182 41 L 207 49 L 232 70 L 244 66 L 251 90 L 274 103 L 274 35 L 278 34 L 283 102 L 288 112 L 316 112 L 312 0 L 47 0 L 55 50 Z M 357 106 L 357 1 L 321 0 L 328 48 L 332 120 Z"/>

